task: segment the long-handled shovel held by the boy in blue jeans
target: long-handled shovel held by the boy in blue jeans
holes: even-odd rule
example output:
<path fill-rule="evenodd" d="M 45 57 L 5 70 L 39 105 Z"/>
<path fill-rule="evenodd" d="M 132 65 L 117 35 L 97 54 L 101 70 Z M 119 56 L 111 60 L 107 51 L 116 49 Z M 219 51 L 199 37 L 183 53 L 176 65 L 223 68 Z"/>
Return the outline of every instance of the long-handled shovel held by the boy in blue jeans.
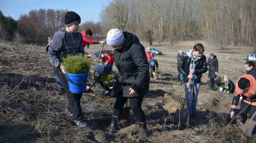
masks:
<path fill-rule="evenodd" d="M 191 82 L 191 78 L 189 78 L 189 80 L 188 80 L 188 87 L 186 89 L 186 94 L 185 94 L 185 98 L 184 98 L 184 101 L 182 103 L 181 109 L 180 110 L 177 109 L 177 111 L 174 115 L 174 120 L 180 121 L 181 123 L 184 122 L 187 119 L 187 115 L 188 115 L 187 111 L 184 111 L 184 106 L 185 106 L 185 103 L 187 101 L 188 89 L 189 89 L 190 82 Z"/>

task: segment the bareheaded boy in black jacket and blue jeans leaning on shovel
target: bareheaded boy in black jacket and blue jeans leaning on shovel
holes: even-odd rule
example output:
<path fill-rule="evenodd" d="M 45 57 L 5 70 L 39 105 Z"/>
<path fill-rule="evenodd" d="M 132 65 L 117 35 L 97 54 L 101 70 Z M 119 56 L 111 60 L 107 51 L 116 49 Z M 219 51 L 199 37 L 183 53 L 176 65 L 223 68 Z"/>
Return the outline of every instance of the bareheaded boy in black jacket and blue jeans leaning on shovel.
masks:
<path fill-rule="evenodd" d="M 191 78 L 191 83 L 187 95 L 187 112 L 190 118 L 196 120 L 196 104 L 197 96 L 200 89 L 202 74 L 207 72 L 206 57 L 203 55 L 204 47 L 197 43 L 193 49 L 188 50 L 181 57 L 179 71 L 183 74 L 185 90 L 188 87 L 188 79 Z M 193 87 L 193 94 L 191 93 Z"/>

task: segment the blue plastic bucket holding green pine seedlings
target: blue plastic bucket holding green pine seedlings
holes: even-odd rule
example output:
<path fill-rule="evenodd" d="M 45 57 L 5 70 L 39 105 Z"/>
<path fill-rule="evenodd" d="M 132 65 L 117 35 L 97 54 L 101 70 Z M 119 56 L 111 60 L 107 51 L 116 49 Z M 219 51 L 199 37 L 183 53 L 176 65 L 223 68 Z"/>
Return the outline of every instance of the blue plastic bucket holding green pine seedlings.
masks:
<path fill-rule="evenodd" d="M 89 73 L 90 71 L 83 74 L 69 74 L 66 72 L 70 92 L 75 94 L 83 93 L 86 90 L 87 82 L 90 80 L 89 77 L 87 81 Z"/>

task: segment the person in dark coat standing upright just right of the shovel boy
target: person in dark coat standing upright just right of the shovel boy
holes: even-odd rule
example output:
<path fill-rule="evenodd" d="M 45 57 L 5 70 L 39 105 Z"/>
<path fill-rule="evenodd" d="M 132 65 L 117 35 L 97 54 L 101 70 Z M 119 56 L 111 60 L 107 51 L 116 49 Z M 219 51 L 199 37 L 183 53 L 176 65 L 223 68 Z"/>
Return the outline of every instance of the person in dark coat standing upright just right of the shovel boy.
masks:
<path fill-rule="evenodd" d="M 210 53 L 210 58 L 208 59 L 207 66 L 209 66 L 209 74 L 211 88 L 208 90 L 214 90 L 214 78 L 217 77 L 218 74 L 218 60 L 217 56 L 214 53 Z"/>

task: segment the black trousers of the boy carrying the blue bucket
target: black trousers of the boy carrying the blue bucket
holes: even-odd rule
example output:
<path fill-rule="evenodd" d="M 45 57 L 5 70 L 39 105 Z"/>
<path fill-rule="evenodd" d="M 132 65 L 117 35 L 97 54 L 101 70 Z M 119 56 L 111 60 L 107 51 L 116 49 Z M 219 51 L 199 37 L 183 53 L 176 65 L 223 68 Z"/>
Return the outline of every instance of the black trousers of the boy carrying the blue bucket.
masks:
<path fill-rule="evenodd" d="M 68 79 L 66 78 L 66 75 L 62 73 L 60 68 L 55 68 L 53 66 L 53 70 L 54 70 L 54 73 L 57 75 L 57 77 L 60 79 L 60 82 L 66 91 L 67 98 L 68 98 L 68 112 L 73 114 L 74 120 L 82 120 L 83 113 L 82 113 L 80 100 L 82 98 L 83 93 L 75 94 L 70 92 L 69 86 L 68 86 Z"/>

